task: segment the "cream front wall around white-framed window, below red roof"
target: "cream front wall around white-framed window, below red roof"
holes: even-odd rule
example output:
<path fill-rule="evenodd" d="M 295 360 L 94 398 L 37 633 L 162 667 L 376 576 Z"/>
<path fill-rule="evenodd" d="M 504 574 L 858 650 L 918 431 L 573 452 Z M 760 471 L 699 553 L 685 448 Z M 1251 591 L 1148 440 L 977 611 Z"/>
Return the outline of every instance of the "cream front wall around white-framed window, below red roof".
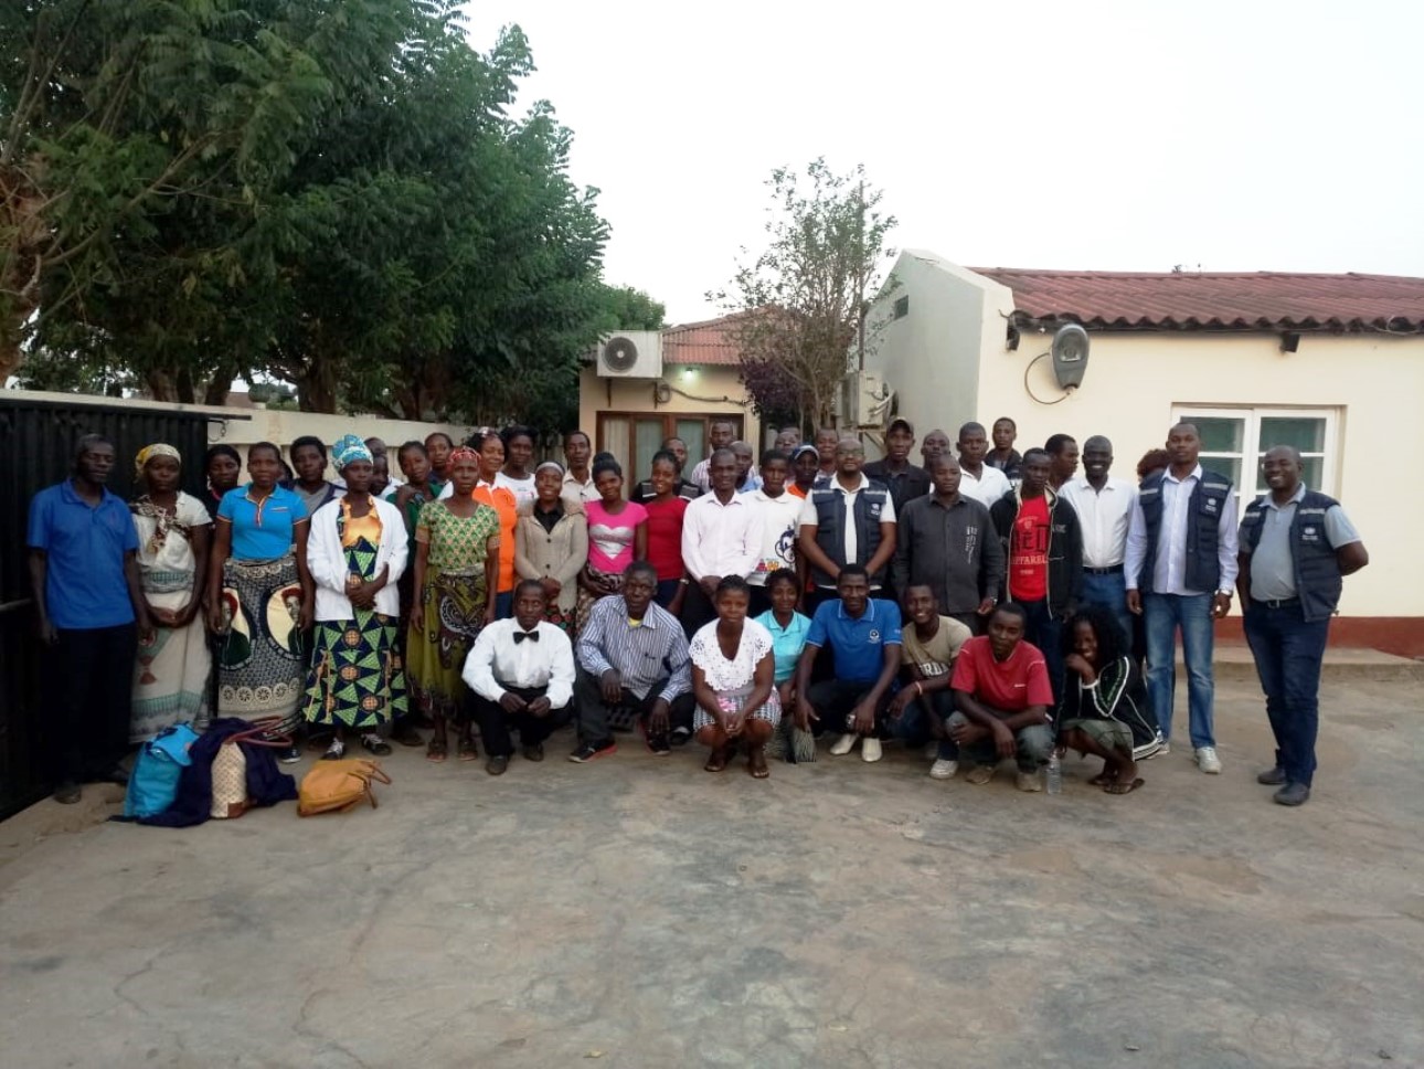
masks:
<path fill-rule="evenodd" d="M 1396 475 L 1424 450 L 1424 338 L 1303 335 L 1297 352 L 1277 335 L 1190 332 L 1092 334 L 1084 385 L 1062 398 L 1048 335 L 1025 335 L 1017 352 L 985 345 L 978 413 L 1018 420 L 1018 449 L 1069 433 L 1112 439 L 1114 473 L 1135 477 L 1138 458 L 1166 439 L 1179 405 L 1336 409 L 1334 485 L 1370 550 L 1370 566 L 1346 580 L 1343 616 L 1424 616 L 1424 569 L 1414 546 L 1424 497 Z"/>

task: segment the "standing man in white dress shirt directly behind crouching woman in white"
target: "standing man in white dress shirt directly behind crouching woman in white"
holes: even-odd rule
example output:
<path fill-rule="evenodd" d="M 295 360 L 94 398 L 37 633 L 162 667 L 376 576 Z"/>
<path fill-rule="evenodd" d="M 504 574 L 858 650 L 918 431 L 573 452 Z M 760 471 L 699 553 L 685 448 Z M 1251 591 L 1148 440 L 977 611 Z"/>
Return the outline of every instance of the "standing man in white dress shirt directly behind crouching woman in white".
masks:
<path fill-rule="evenodd" d="M 762 553 L 765 517 L 752 495 L 736 492 L 736 455 L 718 449 L 709 459 L 712 493 L 688 502 L 682 515 L 682 564 L 691 576 L 682 601 L 688 634 L 716 616 L 712 594 L 722 576 L 749 579 Z"/>

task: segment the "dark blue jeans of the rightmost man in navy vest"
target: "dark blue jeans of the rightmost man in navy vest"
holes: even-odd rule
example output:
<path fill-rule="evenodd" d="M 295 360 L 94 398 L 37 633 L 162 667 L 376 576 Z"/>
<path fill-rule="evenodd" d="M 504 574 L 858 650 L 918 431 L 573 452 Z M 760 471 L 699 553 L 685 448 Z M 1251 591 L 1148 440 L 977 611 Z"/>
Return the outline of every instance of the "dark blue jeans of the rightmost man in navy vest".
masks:
<path fill-rule="evenodd" d="M 1299 604 L 1246 607 L 1246 641 L 1266 691 L 1266 717 L 1276 735 L 1276 764 L 1289 783 L 1306 787 L 1316 774 L 1316 731 L 1320 725 L 1320 663 L 1326 656 L 1330 619 L 1306 620 Z"/>

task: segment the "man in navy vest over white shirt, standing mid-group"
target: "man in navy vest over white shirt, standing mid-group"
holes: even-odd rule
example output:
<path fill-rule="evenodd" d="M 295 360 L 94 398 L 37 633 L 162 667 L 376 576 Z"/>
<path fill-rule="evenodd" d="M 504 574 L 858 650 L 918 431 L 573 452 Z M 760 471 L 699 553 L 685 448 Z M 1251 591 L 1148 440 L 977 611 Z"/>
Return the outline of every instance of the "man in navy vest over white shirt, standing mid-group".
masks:
<path fill-rule="evenodd" d="M 806 554 L 816 584 L 810 609 L 836 597 L 846 564 L 864 564 L 873 594 L 886 583 L 896 546 L 894 500 L 884 483 L 860 470 L 864 462 L 860 439 L 842 438 L 836 443 L 836 477 L 815 486 L 802 506 L 797 549 Z"/>

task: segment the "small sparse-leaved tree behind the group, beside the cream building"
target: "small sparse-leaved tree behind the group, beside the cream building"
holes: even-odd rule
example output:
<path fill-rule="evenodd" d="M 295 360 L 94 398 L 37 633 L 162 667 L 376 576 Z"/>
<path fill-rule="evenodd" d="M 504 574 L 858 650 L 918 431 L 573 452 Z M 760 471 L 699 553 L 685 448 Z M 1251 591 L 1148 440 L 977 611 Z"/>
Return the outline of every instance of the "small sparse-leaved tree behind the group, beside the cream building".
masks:
<path fill-rule="evenodd" d="M 766 249 L 708 298 L 745 312 L 732 338 L 756 412 L 829 426 L 840 381 L 883 326 L 867 322 L 869 295 L 883 291 L 896 220 L 880 212 L 883 194 L 867 187 L 863 165 L 837 175 L 815 160 L 805 174 L 778 168 L 766 184 Z"/>

